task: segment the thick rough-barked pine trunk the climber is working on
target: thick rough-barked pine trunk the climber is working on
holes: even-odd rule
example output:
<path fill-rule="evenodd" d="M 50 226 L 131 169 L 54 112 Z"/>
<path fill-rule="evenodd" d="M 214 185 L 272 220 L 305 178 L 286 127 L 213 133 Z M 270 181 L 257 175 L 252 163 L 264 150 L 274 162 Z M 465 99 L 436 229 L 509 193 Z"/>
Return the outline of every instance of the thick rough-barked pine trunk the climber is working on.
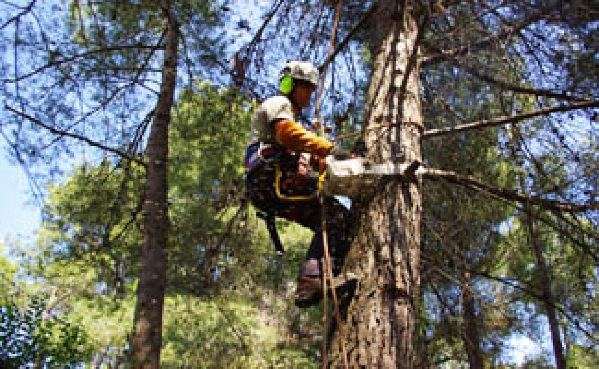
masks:
<path fill-rule="evenodd" d="M 375 162 L 421 160 L 418 4 L 380 1 L 373 14 L 374 66 L 365 123 L 397 123 L 368 131 L 368 156 Z M 351 368 L 413 367 L 420 286 L 420 187 L 416 182 L 389 180 L 377 187 L 367 203 L 358 205 L 363 216 L 344 269 L 358 276 L 345 329 Z"/>

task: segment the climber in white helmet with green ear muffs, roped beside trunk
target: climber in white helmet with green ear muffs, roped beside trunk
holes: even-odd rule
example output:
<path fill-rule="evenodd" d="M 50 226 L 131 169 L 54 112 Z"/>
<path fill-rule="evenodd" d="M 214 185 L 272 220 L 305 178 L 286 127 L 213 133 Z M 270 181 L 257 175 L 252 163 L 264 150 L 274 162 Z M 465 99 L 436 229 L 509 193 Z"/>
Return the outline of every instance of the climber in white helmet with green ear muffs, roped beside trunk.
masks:
<path fill-rule="evenodd" d="M 274 216 L 314 232 L 295 291 L 296 306 L 309 307 L 322 298 L 323 276 L 321 208 L 315 196 L 319 178 L 310 167 L 322 170 L 326 156 L 344 159 L 350 154 L 295 122 L 301 110 L 310 105 L 318 84 L 316 67 L 309 62 L 288 62 L 279 77 L 282 95 L 268 98 L 254 114 L 246 151 L 246 187 L 250 201 L 265 213 L 276 246 L 280 241 L 274 230 Z M 349 249 L 349 211 L 332 196 L 324 201 L 333 274 L 337 275 Z"/>

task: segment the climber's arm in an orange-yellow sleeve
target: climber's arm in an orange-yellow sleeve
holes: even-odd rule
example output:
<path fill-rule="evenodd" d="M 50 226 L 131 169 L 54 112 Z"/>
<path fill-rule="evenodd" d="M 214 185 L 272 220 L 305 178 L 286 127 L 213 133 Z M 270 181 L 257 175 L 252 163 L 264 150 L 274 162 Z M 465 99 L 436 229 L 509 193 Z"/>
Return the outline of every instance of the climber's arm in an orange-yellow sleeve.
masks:
<path fill-rule="evenodd" d="M 273 123 L 277 141 L 295 152 L 307 152 L 320 156 L 329 155 L 334 146 L 330 141 L 318 137 L 289 119 L 279 119 Z"/>

